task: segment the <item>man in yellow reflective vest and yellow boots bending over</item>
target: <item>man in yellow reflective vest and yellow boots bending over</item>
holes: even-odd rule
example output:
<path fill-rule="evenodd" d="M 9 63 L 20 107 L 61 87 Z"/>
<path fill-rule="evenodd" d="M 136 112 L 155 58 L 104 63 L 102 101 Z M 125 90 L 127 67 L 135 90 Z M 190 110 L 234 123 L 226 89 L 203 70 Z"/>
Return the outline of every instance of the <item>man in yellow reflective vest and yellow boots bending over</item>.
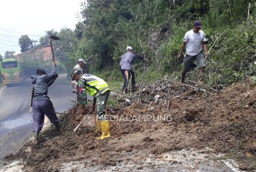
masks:
<path fill-rule="evenodd" d="M 82 105 L 82 114 L 85 113 L 85 105 L 87 104 L 87 94 L 93 96 L 92 110 L 95 110 L 97 104 L 97 129 L 96 132 L 101 132 L 100 140 L 110 137 L 108 121 L 106 121 L 105 107 L 110 94 L 108 84 L 101 78 L 92 74 L 82 74 L 80 70 L 73 69 L 71 72 L 72 80 L 78 82 L 80 91 L 80 104 Z"/>

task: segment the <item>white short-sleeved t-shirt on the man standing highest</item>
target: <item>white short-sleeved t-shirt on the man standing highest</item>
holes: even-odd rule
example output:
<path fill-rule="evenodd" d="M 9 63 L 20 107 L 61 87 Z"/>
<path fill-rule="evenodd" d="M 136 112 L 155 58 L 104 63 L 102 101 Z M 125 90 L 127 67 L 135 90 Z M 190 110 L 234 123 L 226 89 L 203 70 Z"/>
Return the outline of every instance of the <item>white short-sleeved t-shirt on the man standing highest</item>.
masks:
<path fill-rule="evenodd" d="M 186 54 L 194 56 L 202 51 L 202 42 L 206 41 L 204 31 L 193 32 L 193 29 L 188 31 L 183 39 L 186 44 Z"/>

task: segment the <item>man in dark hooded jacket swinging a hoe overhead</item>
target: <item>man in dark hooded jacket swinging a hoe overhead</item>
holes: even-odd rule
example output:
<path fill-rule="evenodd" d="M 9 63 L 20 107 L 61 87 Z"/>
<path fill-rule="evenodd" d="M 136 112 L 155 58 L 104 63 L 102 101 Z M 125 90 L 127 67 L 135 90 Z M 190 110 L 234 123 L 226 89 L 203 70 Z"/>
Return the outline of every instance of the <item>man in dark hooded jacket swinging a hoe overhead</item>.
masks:
<path fill-rule="evenodd" d="M 53 84 L 57 76 L 55 62 L 52 63 L 52 72 L 50 74 L 46 74 L 43 69 L 37 69 L 36 75 L 30 76 L 34 87 L 32 117 L 35 144 L 39 142 L 38 136 L 44 125 L 44 114 L 49 118 L 50 122 L 55 125 L 57 134 L 60 134 L 59 120 L 56 116 L 53 104 L 47 96 L 48 87 Z"/>

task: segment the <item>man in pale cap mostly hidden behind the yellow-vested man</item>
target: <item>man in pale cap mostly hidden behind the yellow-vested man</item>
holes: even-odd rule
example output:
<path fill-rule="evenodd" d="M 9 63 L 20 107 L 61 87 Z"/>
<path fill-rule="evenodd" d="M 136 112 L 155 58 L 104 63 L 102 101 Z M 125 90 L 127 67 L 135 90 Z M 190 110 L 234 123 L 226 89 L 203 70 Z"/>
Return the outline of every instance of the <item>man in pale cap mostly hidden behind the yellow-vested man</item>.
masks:
<path fill-rule="evenodd" d="M 86 64 L 86 62 L 84 61 L 84 59 L 80 58 L 78 59 L 77 61 L 77 65 L 75 65 L 75 67 L 73 68 L 74 69 L 77 69 L 79 71 L 81 71 L 81 73 L 84 73 L 83 72 L 83 67 L 84 65 Z M 80 95 L 79 95 L 79 88 L 77 87 L 77 81 L 73 80 L 72 82 L 72 88 L 73 88 L 73 93 L 74 93 L 74 96 L 73 96 L 73 101 L 74 102 L 79 102 L 77 99 L 80 98 Z"/>

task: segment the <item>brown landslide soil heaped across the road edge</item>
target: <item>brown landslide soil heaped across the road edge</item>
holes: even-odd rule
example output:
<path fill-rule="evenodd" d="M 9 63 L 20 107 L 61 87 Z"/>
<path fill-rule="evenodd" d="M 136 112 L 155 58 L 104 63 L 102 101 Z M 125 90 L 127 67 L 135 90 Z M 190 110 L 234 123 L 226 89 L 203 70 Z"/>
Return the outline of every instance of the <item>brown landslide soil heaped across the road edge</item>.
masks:
<path fill-rule="evenodd" d="M 75 105 L 60 117 L 60 136 L 52 126 L 40 134 L 40 144 L 27 143 L 6 160 L 22 160 L 24 170 L 58 171 L 63 163 L 82 159 L 87 167 L 104 167 L 126 161 L 131 152 L 158 155 L 209 147 L 209 153 L 224 153 L 243 161 L 245 169 L 255 169 L 256 87 L 238 83 L 218 92 L 201 90 L 207 93 L 162 80 L 132 96 L 111 94 L 106 109 L 111 138 L 106 140 L 97 139 L 96 125 L 73 132 L 83 119 L 80 105 Z"/>

